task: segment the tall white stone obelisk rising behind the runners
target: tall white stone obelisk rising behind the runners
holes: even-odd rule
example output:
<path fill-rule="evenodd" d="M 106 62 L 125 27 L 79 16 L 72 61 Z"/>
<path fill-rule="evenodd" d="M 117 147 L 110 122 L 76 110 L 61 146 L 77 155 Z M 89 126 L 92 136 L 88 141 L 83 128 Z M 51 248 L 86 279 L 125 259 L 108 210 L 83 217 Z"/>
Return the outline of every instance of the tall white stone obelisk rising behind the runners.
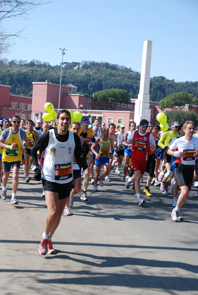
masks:
<path fill-rule="evenodd" d="M 149 109 L 151 52 L 152 41 L 148 39 L 144 41 L 139 94 L 137 100 L 135 100 L 134 121 L 137 125 L 139 125 L 141 119 L 146 119 L 150 121 L 151 117 L 151 110 Z"/>

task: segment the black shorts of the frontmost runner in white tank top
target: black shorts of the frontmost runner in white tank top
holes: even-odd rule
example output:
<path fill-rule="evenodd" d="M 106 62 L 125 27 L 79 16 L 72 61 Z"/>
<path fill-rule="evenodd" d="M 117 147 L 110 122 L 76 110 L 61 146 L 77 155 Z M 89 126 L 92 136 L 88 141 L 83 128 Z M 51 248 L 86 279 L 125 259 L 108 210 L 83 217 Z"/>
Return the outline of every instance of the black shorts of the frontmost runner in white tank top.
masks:
<path fill-rule="evenodd" d="M 73 180 L 68 183 L 57 183 L 42 178 L 43 189 L 59 194 L 59 200 L 69 197 Z"/>

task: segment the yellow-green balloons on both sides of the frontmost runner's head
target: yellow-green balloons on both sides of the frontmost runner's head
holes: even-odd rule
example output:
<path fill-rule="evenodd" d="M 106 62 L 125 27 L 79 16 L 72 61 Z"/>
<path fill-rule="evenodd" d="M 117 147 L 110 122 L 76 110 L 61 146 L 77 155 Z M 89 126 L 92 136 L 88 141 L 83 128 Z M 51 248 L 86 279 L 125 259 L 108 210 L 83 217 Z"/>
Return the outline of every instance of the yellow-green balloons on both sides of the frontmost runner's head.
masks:
<path fill-rule="evenodd" d="M 44 113 L 42 115 L 42 118 L 44 121 L 49 122 L 57 118 L 57 113 L 54 111 L 54 106 L 51 102 L 46 102 L 44 104 L 44 109 L 47 113 Z M 82 114 L 79 111 L 71 112 L 70 110 L 67 110 L 70 113 L 71 116 L 71 123 L 73 121 L 80 122 L 82 118 Z"/>

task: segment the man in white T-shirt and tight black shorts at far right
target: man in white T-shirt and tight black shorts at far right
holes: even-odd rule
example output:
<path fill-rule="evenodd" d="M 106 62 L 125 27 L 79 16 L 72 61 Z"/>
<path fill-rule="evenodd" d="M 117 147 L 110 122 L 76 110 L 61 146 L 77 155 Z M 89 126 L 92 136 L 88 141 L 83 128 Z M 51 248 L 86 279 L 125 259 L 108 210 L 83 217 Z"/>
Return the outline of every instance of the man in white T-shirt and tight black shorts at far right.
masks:
<path fill-rule="evenodd" d="M 198 155 L 198 139 L 193 137 L 194 129 L 194 122 L 186 121 L 183 125 L 185 136 L 176 139 L 167 150 L 168 155 L 177 158 L 175 178 L 181 189 L 177 205 L 171 213 L 171 218 L 174 221 L 181 219 L 179 217 L 180 208 L 184 206 L 193 184 L 194 166 L 196 155 Z"/>

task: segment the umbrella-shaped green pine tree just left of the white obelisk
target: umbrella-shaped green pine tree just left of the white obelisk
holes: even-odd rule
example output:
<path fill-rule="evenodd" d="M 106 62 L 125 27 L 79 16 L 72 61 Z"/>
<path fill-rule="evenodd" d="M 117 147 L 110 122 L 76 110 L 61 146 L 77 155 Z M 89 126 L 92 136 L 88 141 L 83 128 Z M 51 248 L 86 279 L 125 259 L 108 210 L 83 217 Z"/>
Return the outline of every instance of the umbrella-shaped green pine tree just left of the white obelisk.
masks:
<path fill-rule="evenodd" d="M 116 103 L 130 103 L 130 94 L 123 89 L 105 89 L 94 93 L 94 99 L 98 101 L 108 101 L 113 111 L 116 110 Z"/>

